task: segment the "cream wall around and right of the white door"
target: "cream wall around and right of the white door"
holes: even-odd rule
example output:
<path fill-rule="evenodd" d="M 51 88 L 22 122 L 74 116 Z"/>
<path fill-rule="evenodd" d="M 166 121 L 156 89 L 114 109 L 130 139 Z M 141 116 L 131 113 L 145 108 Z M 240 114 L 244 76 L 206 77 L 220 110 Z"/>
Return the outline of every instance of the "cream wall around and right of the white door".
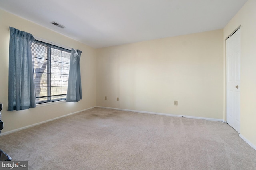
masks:
<path fill-rule="evenodd" d="M 228 35 L 239 25 L 241 25 L 240 135 L 256 146 L 256 0 L 248 0 L 224 27 L 224 43 Z"/>

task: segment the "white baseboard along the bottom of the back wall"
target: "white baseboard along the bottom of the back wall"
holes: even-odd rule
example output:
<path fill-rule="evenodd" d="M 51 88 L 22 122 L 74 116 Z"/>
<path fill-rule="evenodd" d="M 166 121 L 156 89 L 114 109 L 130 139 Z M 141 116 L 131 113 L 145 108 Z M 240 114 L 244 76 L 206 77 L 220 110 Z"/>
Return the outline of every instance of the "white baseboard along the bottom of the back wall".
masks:
<path fill-rule="evenodd" d="M 185 118 L 191 118 L 191 119 L 202 119 L 202 120 L 209 120 L 209 121 L 222 121 L 223 119 L 212 119 L 212 118 L 206 118 L 206 117 L 194 117 L 194 116 L 185 116 L 185 115 L 172 115 L 172 114 L 166 114 L 166 113 L 156 113 L 156 112 L 150 112 L 150 111 L 137 111 L 137 110 L 128 110 L 128 109 L 118 109 L 118 108 L 112 108 L 112 107 L 101 107 L 96 106 L 98 108 L 102 109 L 113 109 L 113 110 L 122 110 L 122 111 L 132 111 L 136 113 L 147 113 L 147 114 L 154 114 L 154 115 L 164 115 L 164 116 L 172 116 L 172 117 L 185 117 Z"/>

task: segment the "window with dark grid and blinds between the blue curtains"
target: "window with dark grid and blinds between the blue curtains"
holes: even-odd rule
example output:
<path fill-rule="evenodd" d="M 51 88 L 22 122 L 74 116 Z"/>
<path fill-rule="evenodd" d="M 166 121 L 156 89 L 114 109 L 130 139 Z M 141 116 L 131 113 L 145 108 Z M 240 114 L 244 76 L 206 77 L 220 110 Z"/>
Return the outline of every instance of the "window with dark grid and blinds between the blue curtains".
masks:
<path fill-rule="evenodd" d="M 31 45 L 36 104 L 66 100 L 70 50 L 35 40 Z"/>

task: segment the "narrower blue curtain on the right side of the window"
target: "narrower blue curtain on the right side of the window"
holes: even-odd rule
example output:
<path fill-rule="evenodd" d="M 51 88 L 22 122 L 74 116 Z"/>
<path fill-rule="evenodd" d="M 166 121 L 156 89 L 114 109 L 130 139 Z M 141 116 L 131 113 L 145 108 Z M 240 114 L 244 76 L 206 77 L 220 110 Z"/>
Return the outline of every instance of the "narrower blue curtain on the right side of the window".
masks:
<path fill-rule="evenodd" d="M 68 92 L 67 102 L 78 102 L 82 99 L 81 73 L 80 73 L 80 57 L 82 51 L 71 50 L 70 68 L 68 76 Z"/>

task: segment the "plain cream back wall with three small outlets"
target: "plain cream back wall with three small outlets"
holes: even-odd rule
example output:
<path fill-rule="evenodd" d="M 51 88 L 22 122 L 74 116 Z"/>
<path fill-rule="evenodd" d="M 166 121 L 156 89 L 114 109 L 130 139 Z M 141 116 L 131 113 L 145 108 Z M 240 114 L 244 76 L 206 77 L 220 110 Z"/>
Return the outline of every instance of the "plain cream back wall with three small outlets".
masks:
<path fill-rule="evenodd" d="M 223 84 L 222 29 L 96 49 L 97 106 L 223 120 Z"/>

